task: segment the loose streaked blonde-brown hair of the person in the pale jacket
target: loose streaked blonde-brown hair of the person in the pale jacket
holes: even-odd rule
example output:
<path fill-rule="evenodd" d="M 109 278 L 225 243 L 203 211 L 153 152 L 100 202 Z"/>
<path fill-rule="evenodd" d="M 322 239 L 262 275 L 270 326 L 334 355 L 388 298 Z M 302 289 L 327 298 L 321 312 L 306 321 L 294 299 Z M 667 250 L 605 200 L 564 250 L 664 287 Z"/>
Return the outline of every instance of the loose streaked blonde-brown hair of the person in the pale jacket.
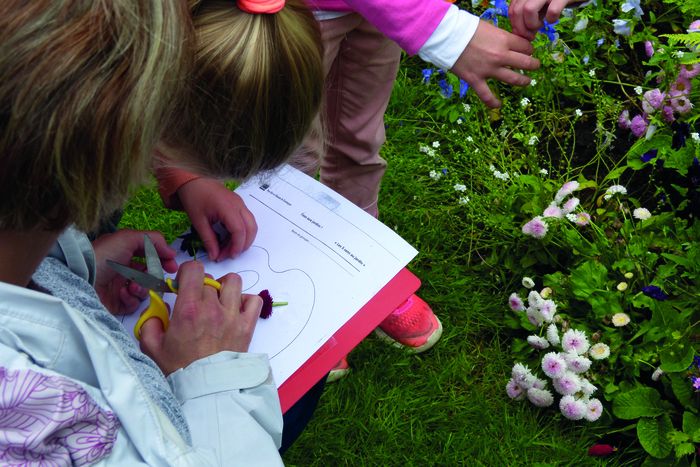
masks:
<path fill-rule="evenodd" d="M 191 65 L 187 5 L 3 0 L 0 229 L 91 229 L 147 173 Z"/>

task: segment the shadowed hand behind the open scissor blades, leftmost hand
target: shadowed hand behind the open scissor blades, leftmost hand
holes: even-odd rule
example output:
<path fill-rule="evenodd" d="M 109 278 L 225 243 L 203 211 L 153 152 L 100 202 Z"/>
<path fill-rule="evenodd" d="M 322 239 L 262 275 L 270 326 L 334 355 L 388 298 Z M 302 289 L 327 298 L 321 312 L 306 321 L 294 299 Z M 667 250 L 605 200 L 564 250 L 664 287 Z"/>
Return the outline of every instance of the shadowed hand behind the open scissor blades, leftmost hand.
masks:
<path fill-rule="evenodd" d="M 112 314 L 133 313 L 141 301 L 148 296 L 148 290 L 135 282 L 129 282 L 106 263 L 106 260 L 111 259 L 120 264 L 145 270 L 144 264 L 132 261 L 134 256 L 143 257 L 144 255 L 144 234 L 148 234 L 153 240 L 163 270 L 167 272 L 177 271 L 175 250 L 168 246 L 160 232 L 118 230 L 112 234 L 101 235 L 92 242 L 96 259 L 95 291 L 102 304 Z"/>

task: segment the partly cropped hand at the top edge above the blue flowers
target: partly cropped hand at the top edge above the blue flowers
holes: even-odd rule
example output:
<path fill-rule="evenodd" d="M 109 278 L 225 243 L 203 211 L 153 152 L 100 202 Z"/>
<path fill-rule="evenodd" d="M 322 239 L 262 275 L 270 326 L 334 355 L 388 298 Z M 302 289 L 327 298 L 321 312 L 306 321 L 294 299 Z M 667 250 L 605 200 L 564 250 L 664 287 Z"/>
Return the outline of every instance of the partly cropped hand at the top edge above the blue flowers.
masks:
<path fill-rule="evenodd" d="M 513 34 L 533 40 L 544 26 L 544 19 L 548 23 L 556 22 L 561 11 L 571 3 L 581 3 L 581 0 L 511 0 L 508 17 Z"/>

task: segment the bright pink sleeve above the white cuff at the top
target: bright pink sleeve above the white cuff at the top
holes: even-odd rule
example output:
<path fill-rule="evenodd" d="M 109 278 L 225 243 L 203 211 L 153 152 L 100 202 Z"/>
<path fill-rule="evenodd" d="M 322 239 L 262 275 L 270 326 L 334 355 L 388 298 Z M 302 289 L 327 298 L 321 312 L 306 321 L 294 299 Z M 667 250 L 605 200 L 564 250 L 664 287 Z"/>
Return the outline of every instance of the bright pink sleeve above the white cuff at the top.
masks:
<path fill-rule="evenodd" d="M 338 0 L 308 0 L 312 9 L 343 10 Z M 445 0 L 343 0 L 385 36 L 415 55 L 435 31 L 451 3 Z"/>

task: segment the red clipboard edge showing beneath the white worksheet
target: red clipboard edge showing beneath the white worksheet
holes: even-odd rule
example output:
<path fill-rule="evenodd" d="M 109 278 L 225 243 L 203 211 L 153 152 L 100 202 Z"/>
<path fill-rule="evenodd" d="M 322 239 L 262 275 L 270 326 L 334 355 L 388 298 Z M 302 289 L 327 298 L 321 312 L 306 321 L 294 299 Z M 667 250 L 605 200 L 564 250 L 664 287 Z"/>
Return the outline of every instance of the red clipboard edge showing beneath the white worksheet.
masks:
<path fill-rule="evenodd" d="M 379 323 L 420 287 L 420 279 L 403 268 L 343 325 L 278 389 L 282 413 L 369 335 Z"/>

